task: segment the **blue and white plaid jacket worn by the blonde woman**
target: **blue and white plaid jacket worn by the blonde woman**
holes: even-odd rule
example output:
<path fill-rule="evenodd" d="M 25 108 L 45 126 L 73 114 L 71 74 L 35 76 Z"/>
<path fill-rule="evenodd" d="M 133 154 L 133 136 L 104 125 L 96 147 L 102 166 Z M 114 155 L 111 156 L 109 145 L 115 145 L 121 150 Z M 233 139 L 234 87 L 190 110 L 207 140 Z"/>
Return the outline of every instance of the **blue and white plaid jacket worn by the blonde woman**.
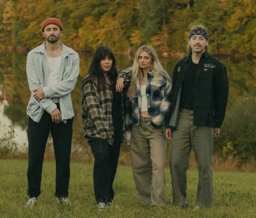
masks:
<path fill-rule="evenodd" d="M 131 83 L 132 68 L 118 71 L 118 78 L 124 78 L 124 84 Z M 163 125 L 164 119 L 168 114 L 172 91 L 172 81 L 170 76 L 161 72 L 159 78 L 153 76 L 152 69 L 148 72 L 146 94 L 148 103 L 148 115 L 156 115 L 152 118 L 150 124 L 154 127 Z M 141 113 L 141 88 L 140 82 L 137 82 L 137 92 L 131 99 L 127 98 L 125 114 L 125 143 L 130 144 L 132 125 L 138 126 Z"/>

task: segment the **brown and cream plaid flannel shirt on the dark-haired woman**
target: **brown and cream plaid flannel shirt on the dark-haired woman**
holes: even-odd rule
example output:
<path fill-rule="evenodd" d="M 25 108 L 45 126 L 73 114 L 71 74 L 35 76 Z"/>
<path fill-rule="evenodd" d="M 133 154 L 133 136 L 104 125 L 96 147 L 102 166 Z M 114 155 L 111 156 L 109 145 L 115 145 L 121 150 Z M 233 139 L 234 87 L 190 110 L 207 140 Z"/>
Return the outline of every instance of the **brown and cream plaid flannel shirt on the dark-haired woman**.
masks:
<path fill-rule="evenodd" d="M 107 140 L 110 145 L 113 145 L 112 102 L 113 94 L 109 86 L 107 86 L 105 93 L 103 91 L 99 92 L 95 78 L 90 78 L 86 81 L 81 94 L 84 136 L 102 138 Z"/>

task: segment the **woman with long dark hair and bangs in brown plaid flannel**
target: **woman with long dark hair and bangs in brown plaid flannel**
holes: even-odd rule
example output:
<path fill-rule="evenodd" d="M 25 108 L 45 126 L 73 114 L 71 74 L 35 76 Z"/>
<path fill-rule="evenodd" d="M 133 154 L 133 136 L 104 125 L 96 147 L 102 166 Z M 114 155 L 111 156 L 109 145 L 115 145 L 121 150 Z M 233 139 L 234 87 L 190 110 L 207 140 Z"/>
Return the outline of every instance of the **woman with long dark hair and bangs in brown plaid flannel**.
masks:
<path fill-rule="evenodd" d="M 112 50 L 100 46 L 82 85 L 82 119 L 84 137 L 95 158 L 93 185 L 97 208 L 112 205 L 122 134 L 122 93 L 116 92 L 116 60 Z"/>

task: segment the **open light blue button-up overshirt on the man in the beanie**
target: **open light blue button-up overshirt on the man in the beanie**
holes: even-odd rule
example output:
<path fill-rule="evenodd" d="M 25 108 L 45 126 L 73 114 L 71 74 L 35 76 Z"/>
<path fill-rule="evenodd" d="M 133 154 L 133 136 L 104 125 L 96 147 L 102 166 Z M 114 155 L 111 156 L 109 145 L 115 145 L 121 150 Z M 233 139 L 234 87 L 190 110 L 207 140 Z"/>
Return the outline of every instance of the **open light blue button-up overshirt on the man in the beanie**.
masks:
<path fill-rule="evenodd" d="M 31 96 L 29 99 L 27 114 L 35 122 L 39 122 L 44 111 L 53 112 L 57 106 L 52 102 L 52 98 L 59 98 L 61 121 L 66 122 L 67 119 L 74 117 L 74 110 L 70 92 L 74 89 L 79 75 L 79 55 L 72 48 L 63 43 L 62 45 L 62 64 L 58 84 L 46 86 L 49 67 L 47 61 L 47 53 L 45 51 L 45 42 L 34 48 L 28 53 L 27 57 L 27 76 L 29 90 Z M 33 89 L 43 88 L 45 98 L 40 102 L 33 97 Z"/>

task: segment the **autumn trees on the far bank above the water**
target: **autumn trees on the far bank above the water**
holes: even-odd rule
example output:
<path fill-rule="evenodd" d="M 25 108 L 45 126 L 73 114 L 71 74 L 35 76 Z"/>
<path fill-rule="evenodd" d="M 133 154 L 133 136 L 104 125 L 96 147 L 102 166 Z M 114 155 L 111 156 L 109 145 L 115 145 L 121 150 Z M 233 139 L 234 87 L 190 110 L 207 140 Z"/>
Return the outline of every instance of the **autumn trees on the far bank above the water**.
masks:
<path fill-rule="evenodd" d="M 256 0 L 0 0 L 0 45 L 40 45 L 48 17 L 60 18 L 61 41 L 76 50 L 148 44 L 167 56 L 185 52 L 189 29 L 204 24 L 213 54 L 256 56 Z"/>

